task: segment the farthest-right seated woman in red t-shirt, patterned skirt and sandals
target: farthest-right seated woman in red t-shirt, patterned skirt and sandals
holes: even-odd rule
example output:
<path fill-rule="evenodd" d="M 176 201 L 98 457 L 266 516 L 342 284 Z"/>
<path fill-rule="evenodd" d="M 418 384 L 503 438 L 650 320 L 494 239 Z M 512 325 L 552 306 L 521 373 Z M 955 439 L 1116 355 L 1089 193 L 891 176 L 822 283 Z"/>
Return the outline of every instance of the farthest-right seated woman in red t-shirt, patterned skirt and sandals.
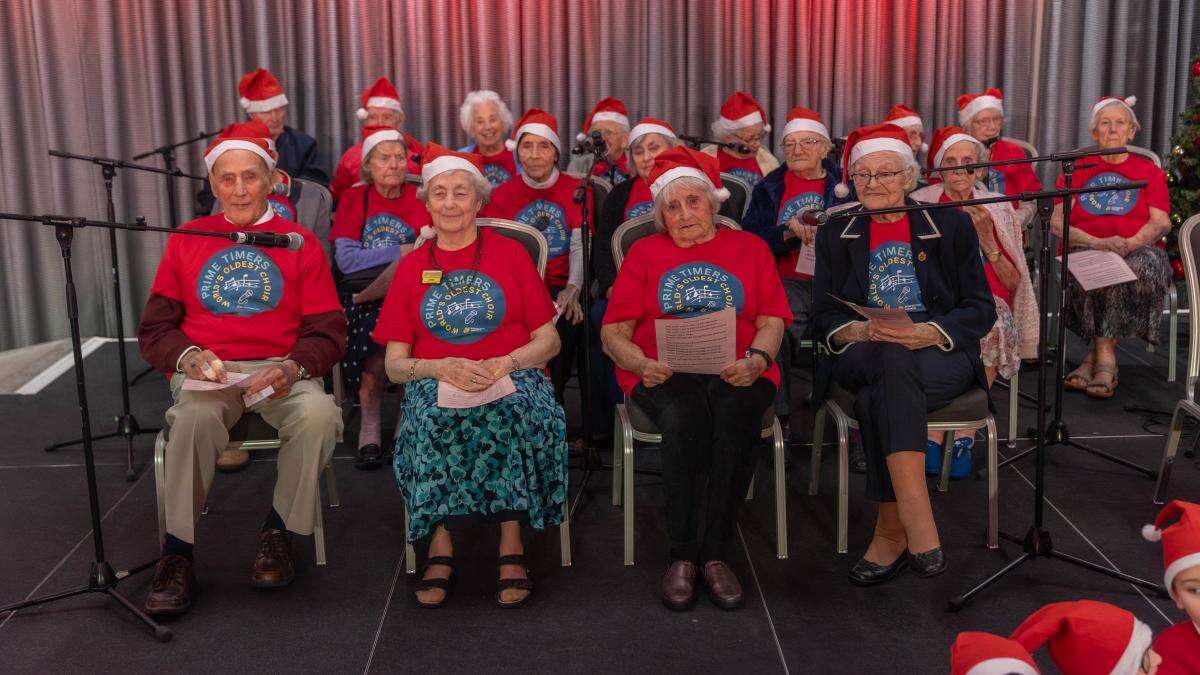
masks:
<path fill-rule="evenodd" d="M 1141 126 L 1133 112 L 1135 98 L 1100 98 L 1092 107 L 1092 138 L 1100 148 L 1133 142 Z M 1136 281 L 1084 291 L 1070 277 L 1063 321 L 1068 330 L 1092 348 L 1067 375 L 1070 389 L 1096 399 L 1111 398 L 1117 388 L 1117 340 L 1141 338 L 1158 341 L 1163 295 L 1171 282 L 1166 252 L 1156 246 L 1171 229 L 1166 174 L 1150 160 L 1126 153 L 1094 157 L 1091 167 L 1075 172 L 1073 187 L 1145 180 L 1144 190 L 1092 192 L 1072 198 L 1070 247 L 1112 251 L 1124 258 Z M 1058 177 L 1057 186 L 1063 185 Z M 1062 232 L 1062 204 L 1055 205 L 1052 227 Z"/>

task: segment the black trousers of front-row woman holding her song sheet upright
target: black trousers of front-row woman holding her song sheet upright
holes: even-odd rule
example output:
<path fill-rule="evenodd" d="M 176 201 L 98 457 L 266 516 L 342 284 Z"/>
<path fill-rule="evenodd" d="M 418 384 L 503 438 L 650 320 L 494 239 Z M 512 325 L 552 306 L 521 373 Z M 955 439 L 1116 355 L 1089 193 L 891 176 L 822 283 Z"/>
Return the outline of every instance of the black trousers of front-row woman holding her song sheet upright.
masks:
<path fill-rule="evenodd" d="M 634 402 L 662 434 L 671 560 L 726 560 L 738 506 L 754 474 L 762 416 L 774 396 L 775 386 L 762 377 L 750 387 L 733 387 L 716 375 L 677 374 L 658 387 L 634 387 Z"/>

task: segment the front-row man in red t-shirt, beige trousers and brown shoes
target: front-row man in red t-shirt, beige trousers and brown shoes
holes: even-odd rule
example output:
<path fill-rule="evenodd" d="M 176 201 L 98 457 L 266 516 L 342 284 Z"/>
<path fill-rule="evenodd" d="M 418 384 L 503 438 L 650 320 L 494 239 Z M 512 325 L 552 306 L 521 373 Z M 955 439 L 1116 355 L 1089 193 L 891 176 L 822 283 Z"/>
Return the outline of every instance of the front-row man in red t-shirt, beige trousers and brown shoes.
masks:
<path fill-rule="evenodd" d="M 191 605 L 196 519 L 217 453 L 242 414 L 260 414 L 282 442 L 251 577 L 258 587 L 284 586 L 295 577 L 288 531 L 312 533 L 317 479 L 342 429 L 341 411 L 313 378 L 342 358 L 346 318 L 320 241 L 266 204 L 272 145 L 257 120 L 227 127 L 204 155 L 223 213 L 181 229 L 296 233 L 302 246 L 170 237 L 138 325 L 142 356 L 172 374 L 175 399 L 167 411 L 167 536 L 146 598 L 150 614 L 181 614 Z"/>

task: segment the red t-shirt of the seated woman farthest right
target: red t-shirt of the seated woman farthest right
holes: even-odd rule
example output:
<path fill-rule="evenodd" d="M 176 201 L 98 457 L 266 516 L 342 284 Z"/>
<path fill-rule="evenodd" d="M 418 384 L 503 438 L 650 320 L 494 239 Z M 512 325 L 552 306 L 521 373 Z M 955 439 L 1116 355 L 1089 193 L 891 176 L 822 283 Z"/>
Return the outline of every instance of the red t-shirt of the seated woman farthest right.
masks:
<path fill-rule="evenodd" d="M 1170 213 L 1171 198 L 1166 192 L 1166 174 L 1154 162 L 1129 153 L 1123 162 L 1111 163 L 1104 157 L 1092 157 L 1093 165 L 1075 172 L 1072 187 L 1094 187 L 1114 183 L 1145 180 L 1144 190 L 1110 190 L 1076 195 L 1070 209 L 1070 226 L 1092 237 L 1133 237 L 1150 220 L 1150 208 Z M 1062 175 L 1055 187 L 1062 187 Z M 1057 202 L 1057 199 L 1056 199 Z"/>

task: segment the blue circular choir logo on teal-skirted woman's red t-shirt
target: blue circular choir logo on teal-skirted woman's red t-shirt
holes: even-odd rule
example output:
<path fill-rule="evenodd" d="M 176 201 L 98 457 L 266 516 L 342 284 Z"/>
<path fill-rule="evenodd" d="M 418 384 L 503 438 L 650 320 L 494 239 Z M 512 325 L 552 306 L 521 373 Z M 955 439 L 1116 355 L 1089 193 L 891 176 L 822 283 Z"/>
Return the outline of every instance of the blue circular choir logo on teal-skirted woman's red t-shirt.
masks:
<path fill-rule="evenodd" d="M 421 321 L 439 340 L 469 345 L 496 330 L 504 321 L 504 289 L 484 273 L 460 269 L 446 273 L 421 298 Z"/>

